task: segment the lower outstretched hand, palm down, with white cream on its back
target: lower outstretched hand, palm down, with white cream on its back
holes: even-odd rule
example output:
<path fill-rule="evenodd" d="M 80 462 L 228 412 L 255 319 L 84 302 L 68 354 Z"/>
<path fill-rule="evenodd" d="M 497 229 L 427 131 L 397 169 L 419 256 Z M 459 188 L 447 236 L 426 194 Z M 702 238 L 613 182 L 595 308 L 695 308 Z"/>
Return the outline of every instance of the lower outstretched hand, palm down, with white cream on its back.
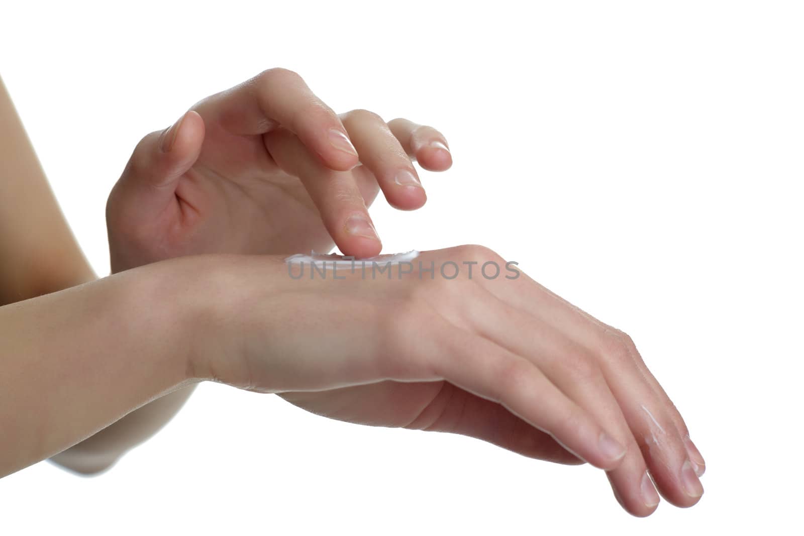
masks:
<path fill-rule="evenodd" d="M 435 272 L 420 272 L 419 261 Z M 481 273 L 489 262 L 500 269 L 494 279 Z M 460 270 L 445 279 L 441 266 L 447 276 Z M 625 333 L 486 248 L 425 252 L 413 267 L 376 279 L 341 267 L 345 279 L 334 280 L 331 268 L 311 279 L 308 265 L 296 280 L 281 258 L 230 260 L 205 286 L 217 312 L 199 326 L 194 370 L 334 419 L 588 461 L 637 516 L 659 501 L 646 470 L 672 504 L 699 500 L 704 460 Z"/>

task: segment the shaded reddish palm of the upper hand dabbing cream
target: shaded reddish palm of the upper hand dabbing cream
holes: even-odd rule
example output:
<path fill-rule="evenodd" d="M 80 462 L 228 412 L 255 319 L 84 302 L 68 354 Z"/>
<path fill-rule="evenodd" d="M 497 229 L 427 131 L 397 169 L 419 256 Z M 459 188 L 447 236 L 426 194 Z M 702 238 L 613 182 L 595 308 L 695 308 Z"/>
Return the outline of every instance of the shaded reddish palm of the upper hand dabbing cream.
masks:
<path fill-rule="evenodd" d="M 363 166 L 351 173 L 370 204 L 378 191 L 374 178 Z M 273 162 L 260 135 L 208 125 L 199 159 L 176 194 L 161 230 L 173 230 L 162 235 L 175 256 L 327 252 L 334 245 L 299 178 Z"/>

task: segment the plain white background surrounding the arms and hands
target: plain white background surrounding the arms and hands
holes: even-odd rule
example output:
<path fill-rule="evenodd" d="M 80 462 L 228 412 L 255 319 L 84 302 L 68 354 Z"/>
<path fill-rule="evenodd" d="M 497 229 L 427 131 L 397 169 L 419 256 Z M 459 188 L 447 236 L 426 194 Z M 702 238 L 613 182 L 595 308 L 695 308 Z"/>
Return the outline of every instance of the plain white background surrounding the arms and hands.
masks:
<path fill-rule="evenodd" d="M 105 198 L 140 137 L 291 68 L 338 112 L 448 137 L 424 209 L 373 209 L 385 252 L 482 243 L 625 329 L 708 470 L 699 505 L 631 518 L 588 466 L 205 384 L 100 477 L 3 478 L 0 533 L 800 529 L 801 6 L 3 2 L 0 73 L 99 274 Z"/>

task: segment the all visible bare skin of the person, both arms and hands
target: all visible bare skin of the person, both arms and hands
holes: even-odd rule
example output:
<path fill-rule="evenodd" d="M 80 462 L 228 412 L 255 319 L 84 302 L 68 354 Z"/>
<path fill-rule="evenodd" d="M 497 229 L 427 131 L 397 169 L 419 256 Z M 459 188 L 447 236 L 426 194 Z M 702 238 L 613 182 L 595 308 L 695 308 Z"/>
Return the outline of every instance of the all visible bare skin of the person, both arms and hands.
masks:
<path fill-rule="evenodd" d="M 379 191 L 404 210 L 425 203 L 413 162 L 452 162 L 437 130 L 337 115 L 295 73 L 261 73 L 143 138 L 107 206 L 119 273 L 53 293 L 93 275 L 3 98 L 3 139 L 18 145 L 0 153 L 0 199 L 51 216 L 21 238 L 33 210 L 0 203 L 12 260 L 0 296 L 18 301 L 0 308 L 0 392 L 12 401 L 0 404 L 0 476 L 48 456 L 108 468 L 213 380 L 334 419 L 588 462 L 637 516 L 654 511 L 657 489 L 674 505 L 699 501 L 704 460 L 634 343 L 523 272 L 289 277 L 289 253 L 378 253 L 367 205 Z M 14 158 L 23 164 L 6 174 Z M 27 268 L 47 255 L 71 262 L 43 264 L 59 266 L 47 276 Z M 479 246 L 418 260 L 505 265 Z"/>

